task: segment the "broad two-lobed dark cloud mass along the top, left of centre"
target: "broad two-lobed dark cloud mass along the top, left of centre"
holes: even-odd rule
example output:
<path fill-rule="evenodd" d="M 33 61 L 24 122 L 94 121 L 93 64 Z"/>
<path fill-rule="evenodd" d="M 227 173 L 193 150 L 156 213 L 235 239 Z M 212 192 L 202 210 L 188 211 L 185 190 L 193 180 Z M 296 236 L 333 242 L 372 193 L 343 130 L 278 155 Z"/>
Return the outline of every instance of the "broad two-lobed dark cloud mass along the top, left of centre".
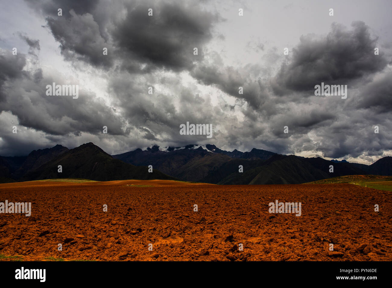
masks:
<path fill-rule="evenodd" d="M 142 73 L 190 69 L 203 59 L 203 45 L 212 38 L 213 24 L 221 20 L 198 4 L 183 2 L 131 1 L 113 8 L 118 10 L 108 13 L 113 17 L 110 20 L 94 10 L 94 5 L 73 9 L 67 3 L 67 7 L 72 8 L 68 17 L 47 17 L 65 60 L 110 67 L 115 55 L 123 69 Z M 148 15 L 149 8 L 153 16 Z M 123 11 L 125 18 L 118 17 Z M 107 55 L 103 55 L 103 47 L 108 49 Z M 193 54 L 194 47 L 198 55 Z"/>

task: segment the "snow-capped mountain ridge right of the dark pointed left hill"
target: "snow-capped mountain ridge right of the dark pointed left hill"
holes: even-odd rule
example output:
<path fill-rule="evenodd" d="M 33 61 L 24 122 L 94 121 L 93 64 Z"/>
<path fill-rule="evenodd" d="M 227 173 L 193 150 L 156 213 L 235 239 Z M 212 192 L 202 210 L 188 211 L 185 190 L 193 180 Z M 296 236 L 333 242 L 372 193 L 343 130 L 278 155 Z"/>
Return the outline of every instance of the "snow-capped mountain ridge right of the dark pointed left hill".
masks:
<path fill-rule="evenodd" d="M 152 145 L 113 157 L 133 165 L 153 165 L 184 181 L 214 184 L 299 184 L 345 175 L 391 175 L 388 163 L 392 162 L 387 158 L 369 166 L 346 160 L 280 155 L 256 148 L 249 152 L 226 151 L 212 144 L 175 148 Z M 240 165 L 243 172 L 239 172 Z M 329 172 L 330 165 L 334 172 Z"/>

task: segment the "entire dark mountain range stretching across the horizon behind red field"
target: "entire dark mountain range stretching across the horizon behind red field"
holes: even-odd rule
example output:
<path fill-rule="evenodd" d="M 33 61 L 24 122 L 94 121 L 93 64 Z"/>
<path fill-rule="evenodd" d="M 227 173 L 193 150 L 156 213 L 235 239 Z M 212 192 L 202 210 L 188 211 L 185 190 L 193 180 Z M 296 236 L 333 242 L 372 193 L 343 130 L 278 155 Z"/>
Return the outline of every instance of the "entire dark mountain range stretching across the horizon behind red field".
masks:
<path fill-rule="evenodd" d="M 62 172 L 58 172 L 62 165 Z M 152 165 L 152 172 L 148 166 Z M 333 172 L 329 172 L 333 165 Z M 242 167 L 243 172 L 240 171 Z M 0 156 L 0 183 L 53 178 L 97 181 L 177 179 L 213 184 L 300 184 L 345 175 L 392 175 L 392 157 L 372 165 L 281 155 L 262 149 L 225 151 L 215 145 L 136 149 L 109 155 L 93 143 L 62 145 L 23 157 Z"/>

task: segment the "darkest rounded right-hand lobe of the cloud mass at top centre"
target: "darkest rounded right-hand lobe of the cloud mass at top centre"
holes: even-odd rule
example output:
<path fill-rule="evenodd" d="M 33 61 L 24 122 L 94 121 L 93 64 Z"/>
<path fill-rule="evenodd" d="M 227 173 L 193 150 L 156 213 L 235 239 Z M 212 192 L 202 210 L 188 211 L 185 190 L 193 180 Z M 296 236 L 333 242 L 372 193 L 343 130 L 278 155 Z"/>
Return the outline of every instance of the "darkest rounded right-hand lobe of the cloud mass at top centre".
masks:
<path fill-rule="evenodd" d="M 203 44 L 212 38 L 212 25 L 219 20 L 198 5 L 181 2 L 140 2 L 125 6 L 127 16 L 117 24 L 113 38 L 119 49 L 155 68 L 190 69 L 203 58 Z M 148 9 L 153 16 L 148 16 Z M 198 55 L 193 54 L 194 47 Z"/>

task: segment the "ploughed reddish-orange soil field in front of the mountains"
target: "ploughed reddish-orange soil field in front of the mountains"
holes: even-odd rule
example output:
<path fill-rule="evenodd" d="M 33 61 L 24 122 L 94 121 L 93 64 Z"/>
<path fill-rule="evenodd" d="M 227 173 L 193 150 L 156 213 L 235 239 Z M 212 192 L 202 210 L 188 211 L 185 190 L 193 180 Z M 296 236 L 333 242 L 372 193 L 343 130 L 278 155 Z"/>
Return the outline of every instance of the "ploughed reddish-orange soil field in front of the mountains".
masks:
<path fill-rule="evenodd" d="M 270 214 L 276 199 L 302 215 Z M 0 214 L 0 260 L 392 260 L 391 192 L 350 184 L 33 181 L 1 184 L 5 200 L 32 212 Z"/>

